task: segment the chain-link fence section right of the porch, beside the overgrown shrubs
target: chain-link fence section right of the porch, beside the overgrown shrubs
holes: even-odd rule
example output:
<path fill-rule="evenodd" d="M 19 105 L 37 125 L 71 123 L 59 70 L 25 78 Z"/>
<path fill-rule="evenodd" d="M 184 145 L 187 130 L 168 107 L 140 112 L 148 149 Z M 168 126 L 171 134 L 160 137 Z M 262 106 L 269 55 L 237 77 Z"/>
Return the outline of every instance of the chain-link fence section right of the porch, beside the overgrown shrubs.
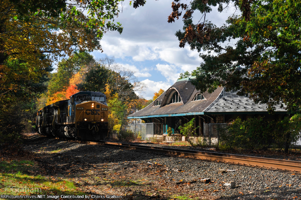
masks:
<path fill-rule="evenodd" d="M 204 124 L 203 143 L 207 146 L 218 145 L 222 131 L 225 131 L 228 124 Z"/>

